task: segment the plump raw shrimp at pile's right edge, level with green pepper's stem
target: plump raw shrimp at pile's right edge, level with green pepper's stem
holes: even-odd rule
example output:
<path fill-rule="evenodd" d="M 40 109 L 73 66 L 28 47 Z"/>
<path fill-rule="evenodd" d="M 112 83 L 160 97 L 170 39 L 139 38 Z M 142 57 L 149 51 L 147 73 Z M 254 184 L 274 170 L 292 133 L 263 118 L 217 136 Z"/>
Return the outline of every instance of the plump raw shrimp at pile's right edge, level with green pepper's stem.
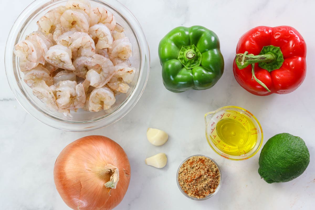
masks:
<path fill-rule="evenodd" d="M 117 39 L 113 42 L 112 48 L 109 48 L 109 54 L 112 58 L 129 59 L 132 56 L 132 45 L 128 37 Z"/>

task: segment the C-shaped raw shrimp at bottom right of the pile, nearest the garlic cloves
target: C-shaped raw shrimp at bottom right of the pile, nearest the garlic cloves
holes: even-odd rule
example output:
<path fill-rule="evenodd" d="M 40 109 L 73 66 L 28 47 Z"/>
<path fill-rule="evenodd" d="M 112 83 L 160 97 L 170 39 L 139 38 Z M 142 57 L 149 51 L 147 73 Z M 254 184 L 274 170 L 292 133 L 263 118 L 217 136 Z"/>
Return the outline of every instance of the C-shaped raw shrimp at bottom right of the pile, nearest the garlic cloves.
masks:
<path fill-rule="evenodd" d="M 115 101 L 115 95 L 109 88 L 95 88 L 87 98 L 86 107 L 89 111 L 108 110 Z"/>

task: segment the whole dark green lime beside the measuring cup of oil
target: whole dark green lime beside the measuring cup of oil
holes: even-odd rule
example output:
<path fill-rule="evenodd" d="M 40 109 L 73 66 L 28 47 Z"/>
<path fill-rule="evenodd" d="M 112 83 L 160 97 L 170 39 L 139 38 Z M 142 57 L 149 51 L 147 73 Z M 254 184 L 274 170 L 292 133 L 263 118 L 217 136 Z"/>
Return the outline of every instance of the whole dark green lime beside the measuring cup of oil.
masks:
<path fill-rule="evenodd" d="M 267 183 L 288 182 L 300 176 L 309 162 L 310 153 L 303 139 L 279 133 L 262 148 L 258 173 Z"/>

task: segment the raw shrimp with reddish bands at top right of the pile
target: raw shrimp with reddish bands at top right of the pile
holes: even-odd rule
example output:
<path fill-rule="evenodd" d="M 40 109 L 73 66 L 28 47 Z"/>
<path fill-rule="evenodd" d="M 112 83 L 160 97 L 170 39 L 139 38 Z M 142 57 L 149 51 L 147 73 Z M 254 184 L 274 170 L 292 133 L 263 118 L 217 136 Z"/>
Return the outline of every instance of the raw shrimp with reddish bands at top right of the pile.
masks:
<path fill-rule="evenodd" d="M 95 7 L 90 11 L 90 26 L 94 26 L 97 23 L 103 23 L 111 31 L 115 29 L 116 20 L 115 16 L 107 11 L 105 8 Z"/>

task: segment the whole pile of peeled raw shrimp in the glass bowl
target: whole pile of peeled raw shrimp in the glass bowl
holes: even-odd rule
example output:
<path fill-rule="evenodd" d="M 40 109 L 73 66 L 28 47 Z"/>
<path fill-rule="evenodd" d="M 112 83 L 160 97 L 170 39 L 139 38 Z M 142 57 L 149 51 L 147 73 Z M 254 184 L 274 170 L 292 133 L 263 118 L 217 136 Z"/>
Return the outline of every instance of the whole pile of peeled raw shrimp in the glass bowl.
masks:
<path fill-rule="evenodd" d="M 108 110 L 115 96 L 127 93 L 135 68 L 132 45 L 105 8 L 88 0 L 69 0 L 51 9 L 38 30 L 16 44 L 24 81 L 54 111 Z"/>

